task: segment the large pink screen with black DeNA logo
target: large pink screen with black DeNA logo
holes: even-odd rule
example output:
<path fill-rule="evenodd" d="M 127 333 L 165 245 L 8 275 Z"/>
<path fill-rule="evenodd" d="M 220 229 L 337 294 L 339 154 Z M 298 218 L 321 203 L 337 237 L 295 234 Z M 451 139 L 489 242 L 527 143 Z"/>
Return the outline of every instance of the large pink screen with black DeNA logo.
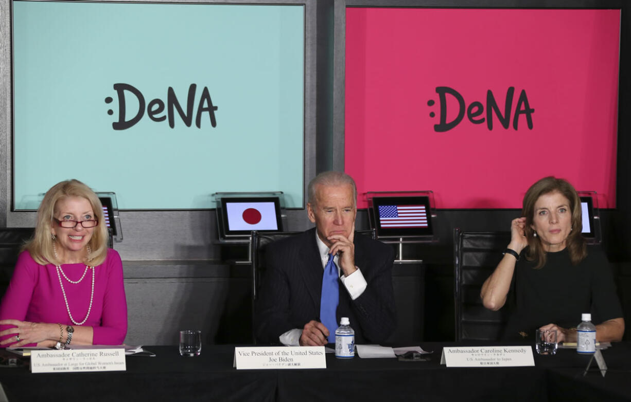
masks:
<path fill-rule="evenodd" d="M 566 178 L 615 207 L 620 10 L 346 8 L 345 171 L 444 209 Z"/>

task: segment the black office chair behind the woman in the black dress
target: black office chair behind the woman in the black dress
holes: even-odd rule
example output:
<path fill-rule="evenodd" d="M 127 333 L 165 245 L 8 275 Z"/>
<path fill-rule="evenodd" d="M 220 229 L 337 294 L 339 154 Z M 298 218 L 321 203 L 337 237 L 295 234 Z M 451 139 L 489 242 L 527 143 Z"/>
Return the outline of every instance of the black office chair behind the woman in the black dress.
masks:
<path fill-rule="evenodd" d="M 510 232 L 462 232 L 454 229 L 454 305 L 456 341 L 498 340 L 507 309 L 491 311 L 482 305 L 480 290 L 502 260 Z"/>

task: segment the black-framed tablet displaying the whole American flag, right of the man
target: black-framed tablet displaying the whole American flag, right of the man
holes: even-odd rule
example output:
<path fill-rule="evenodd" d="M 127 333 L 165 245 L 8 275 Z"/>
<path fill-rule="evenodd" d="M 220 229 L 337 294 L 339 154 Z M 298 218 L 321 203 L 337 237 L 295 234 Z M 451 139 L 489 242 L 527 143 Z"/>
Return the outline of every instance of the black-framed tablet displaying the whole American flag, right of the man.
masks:
<path fill-rule="evenodd" d="M 377 238 L 432 236 L 429 197 L 372 198 Z"/>

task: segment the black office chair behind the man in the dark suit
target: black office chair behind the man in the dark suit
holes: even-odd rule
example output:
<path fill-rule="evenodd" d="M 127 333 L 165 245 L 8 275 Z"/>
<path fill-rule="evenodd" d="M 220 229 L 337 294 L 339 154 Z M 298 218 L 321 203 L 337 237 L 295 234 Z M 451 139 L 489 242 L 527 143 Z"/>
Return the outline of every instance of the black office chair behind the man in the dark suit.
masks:
<path fill-rule="evenodd" d="M 285 239 L 295 234 L 302 232 L 252 232 L 250 241 L 250 261 L 252 261 L 252 340 L 256 343 L 256 336 L 254 336 L 254 305 L 256 299 L 259 296 L 259 289 L 261 288 L 261 280 L 265 273 L 265 253 L 268 244 L 273 243 L 276 240 Z M 357 231 L 364 236 L 375 238 L 375 231 Z M 315 239 L 314 239 L 315 241 Z"/>

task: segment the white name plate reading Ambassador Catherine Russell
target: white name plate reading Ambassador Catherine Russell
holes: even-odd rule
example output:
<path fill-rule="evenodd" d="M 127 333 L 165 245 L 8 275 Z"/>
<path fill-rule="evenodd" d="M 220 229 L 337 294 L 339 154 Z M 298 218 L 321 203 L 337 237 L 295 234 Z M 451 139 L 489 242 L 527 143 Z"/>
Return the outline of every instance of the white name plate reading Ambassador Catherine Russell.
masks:
<path fill-rule="evenodd" d="M 33 350 L 31 372 L 125 371 L 125 349 Z"/>

